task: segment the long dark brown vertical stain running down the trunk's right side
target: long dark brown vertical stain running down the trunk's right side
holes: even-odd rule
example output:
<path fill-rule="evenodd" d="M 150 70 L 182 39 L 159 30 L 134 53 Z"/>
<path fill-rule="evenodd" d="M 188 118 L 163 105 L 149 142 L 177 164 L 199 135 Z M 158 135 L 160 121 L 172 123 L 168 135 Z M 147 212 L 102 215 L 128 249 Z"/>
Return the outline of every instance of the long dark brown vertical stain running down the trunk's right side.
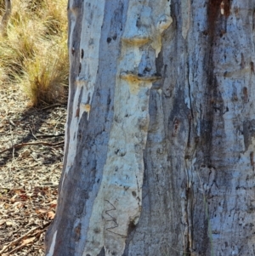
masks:
<path fill-rule="evenodd" d="M 212 167 L 212 164 L 215 165 L 213 168 L 221 170 L 221 162 L 218 159 L 225 152 L 224 143 L 222 143 L 224 141 L 224 118 L 222 113 L 225 106 L 221 91 L 218 88 L 217 76 L 214 72 L 215 65 L 217 64 L 214 62 L 213 56 L 215 53 L 218 53 L 217 48 L 220 45 L 220 37 L 223 37 L 228 32 L 226 20 L 230 14 L 231 2 L 232 0 L 209 0 L 207 3 L 207 31 L 203 33 L 207 37 L 207 54 L 205 58 L 207 87 L 204 92 L 204 105 L 201 105 L 201 113 L 203 113 L 201 117 L 201 145 L 198 146 L 201 150 L 201 164 L 208 167 L 201 173 L 205 180 L 209 179 L 207 177 L 210 177 L 209 169 Z M 216 129 L 218 129 L 220 136 L 215 136 Z M 224 169 L 218 174 L 217 179 L 221 177 L 224 179 Z M 225 185 L 228 186 L 227 182 Z M 212 187 L 212 184 L 209 187 Z M 213 200 L 211 197 L 207 198 L 207 196 L 211 196 L 210 191 L 200 198 L 201 202 L 206 204 L 205 210 L 207 213 L 201 213 L 200 210 L 195 209 L 193 204 L 193 223 L 199 221 L 199 225 L 203 227 L 199 231 L 195 231 L 194 227 L 191 228 L 191 231 L 194 231 L 191 246 L 195 247 L 198 255 L 209 255 L 209 252 L 212 252 L 212 241 L 210 241 L 208 236 L 212 231 L 208 213 L 211 210 L 210 203 Z M 196 200 L 198 201 L 198 199 Z"/>

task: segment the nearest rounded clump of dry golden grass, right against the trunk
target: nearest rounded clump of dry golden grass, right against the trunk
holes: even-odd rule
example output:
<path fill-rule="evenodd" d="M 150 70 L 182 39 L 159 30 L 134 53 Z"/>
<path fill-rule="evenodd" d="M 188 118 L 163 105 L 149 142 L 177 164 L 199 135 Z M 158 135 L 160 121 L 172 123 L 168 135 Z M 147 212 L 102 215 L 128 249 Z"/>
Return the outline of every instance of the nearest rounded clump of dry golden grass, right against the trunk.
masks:
<path fill-rule="evenodd" d="M 65 52 L 56 44 L 45 45 L 40 54 L 26 62 L 20 85 L 35 105 L 57 102 L 64 96 L 64 87 L 68 82 L 66 60 Z"/>

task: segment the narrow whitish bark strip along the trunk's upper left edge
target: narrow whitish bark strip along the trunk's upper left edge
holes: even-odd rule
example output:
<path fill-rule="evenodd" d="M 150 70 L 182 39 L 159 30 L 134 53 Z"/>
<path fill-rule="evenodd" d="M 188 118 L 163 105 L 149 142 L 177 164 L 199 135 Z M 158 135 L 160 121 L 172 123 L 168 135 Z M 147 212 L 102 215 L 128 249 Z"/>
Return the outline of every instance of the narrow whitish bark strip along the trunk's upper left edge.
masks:
<path fill-rule="evenodd" d="M 70 58 L 74 45 L 72 33 L 75 26 L 77 26 L 77 8 L 75 7 L 75 2 L 75 0 L 71 0 L 69 3 L 71 6 Z M 71 118 L 71 123 L 68 123 L 66 126 L 67 133 L 70 134 L 70 140 L 68 142 L 69 148 L 65 149 L 66 153 L 68 153 L 66 156 L 67 163 L 65 174 L 68 174 L 77 153 L 77 128 L 81 121 L 82 114 L 87 112 L 89 117 L 91 100 L 94 94 L 94 84 L 99 68 L 99 42 L 101 26 L 103 25 L 105 1 L 85 0 L 83 2 L 83 8 L 85 12 L 82 16 L 82 24 L 86 24 L 86 26 L 82 26 L 80 36 L 82 54 L 80 56 L 80 68 L 76 78 L 76 91 L 73 99 L 73 102 L 77 105 L 73 106 L 74 110 L 71 113 L 69 112 L 69 114 L 72 114 L 72 117 L 68 117 L 68 119 Z M 86 48 L 87 51 L 84 53 L 82 48 Z M 70 61 L 72 61 L 72 58 Z M 65 145 L 67 145 L 67 142 Z M 64 182 L 65 179 L 62 180 L 62 185 Z"/>

